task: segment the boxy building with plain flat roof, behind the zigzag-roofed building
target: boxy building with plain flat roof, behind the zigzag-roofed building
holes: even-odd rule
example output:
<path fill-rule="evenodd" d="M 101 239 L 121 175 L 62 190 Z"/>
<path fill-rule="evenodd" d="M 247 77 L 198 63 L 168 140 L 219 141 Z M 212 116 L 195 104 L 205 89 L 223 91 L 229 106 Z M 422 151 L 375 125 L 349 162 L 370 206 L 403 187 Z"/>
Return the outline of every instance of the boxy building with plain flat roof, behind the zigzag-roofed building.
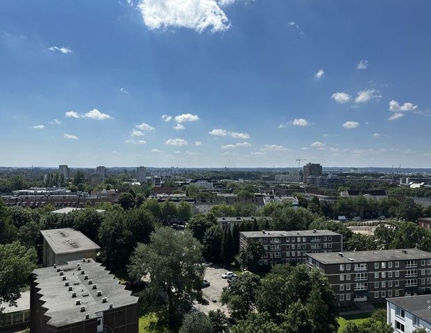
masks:
<path fill-rule="evenodd" d="M 44 266 L 66 264 L 80 258 L 96 259 L 100 246 L 71 228 L 40 230 L 43 237 Z"/>

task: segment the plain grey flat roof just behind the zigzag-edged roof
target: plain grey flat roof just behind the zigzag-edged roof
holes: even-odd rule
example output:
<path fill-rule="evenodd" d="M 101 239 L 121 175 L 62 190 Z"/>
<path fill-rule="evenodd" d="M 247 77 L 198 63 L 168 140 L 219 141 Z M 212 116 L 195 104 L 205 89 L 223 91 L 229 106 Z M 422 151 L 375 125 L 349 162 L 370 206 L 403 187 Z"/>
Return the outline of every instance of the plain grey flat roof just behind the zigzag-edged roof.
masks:
<path fill-rule="evenodd" d="M 81 231 L 72 228 L 40 230 L 40 232 L 57 255 L 100 250 L 100 246 L 94 241 Z"/>

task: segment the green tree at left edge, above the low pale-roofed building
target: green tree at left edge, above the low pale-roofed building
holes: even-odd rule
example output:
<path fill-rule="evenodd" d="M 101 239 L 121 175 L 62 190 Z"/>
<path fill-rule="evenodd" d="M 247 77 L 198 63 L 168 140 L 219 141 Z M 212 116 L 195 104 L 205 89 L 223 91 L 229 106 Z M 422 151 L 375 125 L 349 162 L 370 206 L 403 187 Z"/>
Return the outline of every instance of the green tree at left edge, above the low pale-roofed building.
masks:
<path fill-rule="evenodd" d="M 0 245 L 0 303 L 15 304 L 36 262 L 34 248 L 26 248 L 17 241 Z"/>

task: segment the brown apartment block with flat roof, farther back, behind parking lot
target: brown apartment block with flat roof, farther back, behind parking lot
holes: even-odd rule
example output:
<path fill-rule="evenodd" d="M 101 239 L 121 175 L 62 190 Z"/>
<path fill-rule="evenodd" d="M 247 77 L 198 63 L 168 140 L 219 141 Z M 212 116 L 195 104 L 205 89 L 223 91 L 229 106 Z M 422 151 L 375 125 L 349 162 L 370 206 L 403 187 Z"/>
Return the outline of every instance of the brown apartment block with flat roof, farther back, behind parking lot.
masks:
<path fill-rule="evenodd" d="M 330 230 L 243 231 L 239 246 L 246 248 L 251 241 L 260 241 L 266 253 L 259 264 L 289 264 L 305 262 L 307 253 L 339 252 L 343 236 Z"/>

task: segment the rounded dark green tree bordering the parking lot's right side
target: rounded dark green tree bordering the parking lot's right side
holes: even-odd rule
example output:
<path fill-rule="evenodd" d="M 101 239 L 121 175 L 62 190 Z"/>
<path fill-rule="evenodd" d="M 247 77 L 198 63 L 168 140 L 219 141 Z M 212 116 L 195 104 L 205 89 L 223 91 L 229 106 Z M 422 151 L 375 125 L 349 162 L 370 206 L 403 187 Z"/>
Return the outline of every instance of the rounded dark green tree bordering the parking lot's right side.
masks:
<path fill-rule="evenodd" d="M 253 273 L 242 273 L 221 292 L 221 304 L 228 305 L 235 319 L 244 319 L 255 309 L 260 278 Z"/>

